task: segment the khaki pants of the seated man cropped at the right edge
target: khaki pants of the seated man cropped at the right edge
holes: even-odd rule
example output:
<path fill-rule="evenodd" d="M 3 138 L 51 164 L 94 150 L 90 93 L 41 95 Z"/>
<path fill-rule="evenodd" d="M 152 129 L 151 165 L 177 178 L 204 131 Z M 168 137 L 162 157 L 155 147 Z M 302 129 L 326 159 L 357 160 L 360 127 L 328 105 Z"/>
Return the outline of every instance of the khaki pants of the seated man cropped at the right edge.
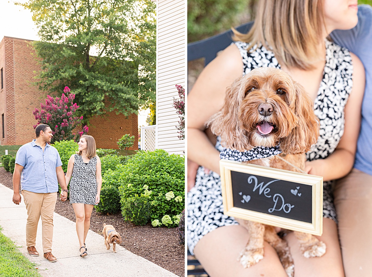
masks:
<path fill-rule="evenodd" d="M 354 168 L 337 181 L 334 204 L 346 277 L 372 276 L 372 176 Z"/>

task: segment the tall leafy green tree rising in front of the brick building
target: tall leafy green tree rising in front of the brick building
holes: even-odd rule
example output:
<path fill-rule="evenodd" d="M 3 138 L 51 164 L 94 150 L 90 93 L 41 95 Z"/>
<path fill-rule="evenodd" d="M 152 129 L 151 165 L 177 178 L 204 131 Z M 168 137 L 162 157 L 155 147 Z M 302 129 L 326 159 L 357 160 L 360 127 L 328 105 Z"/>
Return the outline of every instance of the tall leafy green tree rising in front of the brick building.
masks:
<path fill-rule="evenodd" d="M 129 115 L 155 102 L 156 22 L 150 0 L 29 0 L 39 88 L 68 86 L 79 116 Z"/>

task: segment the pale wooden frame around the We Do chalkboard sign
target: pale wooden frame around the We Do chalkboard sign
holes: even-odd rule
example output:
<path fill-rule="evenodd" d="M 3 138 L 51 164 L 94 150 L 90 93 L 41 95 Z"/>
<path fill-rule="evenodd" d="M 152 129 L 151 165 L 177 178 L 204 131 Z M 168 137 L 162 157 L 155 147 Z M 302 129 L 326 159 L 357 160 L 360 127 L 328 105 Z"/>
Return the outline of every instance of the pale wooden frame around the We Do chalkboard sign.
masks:
<path fill-rule="evenodd" d="M 219 164 L 225 215 L 318 236 L 323 233 L 323 177 L 238 161 L 220 160 Z M 235 207 L 231 171 L 311 186 L 311 223 Z"/>

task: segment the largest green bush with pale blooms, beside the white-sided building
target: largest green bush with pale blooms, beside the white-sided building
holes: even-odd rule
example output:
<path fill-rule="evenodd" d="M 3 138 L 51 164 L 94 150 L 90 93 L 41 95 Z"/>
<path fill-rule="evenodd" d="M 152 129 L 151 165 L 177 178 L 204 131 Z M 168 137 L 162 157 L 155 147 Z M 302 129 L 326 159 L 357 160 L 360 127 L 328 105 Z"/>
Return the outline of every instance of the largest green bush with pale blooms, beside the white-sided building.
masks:
<path fill-rule="evenodd" d="M 185 159 L 162 149 L 140 151 L 121 169 L 121 202 L 135 196 L 146 196 L 151 204 L 151 221 L 168 215 L 179 215 L 185 207 Z M 174 219 L 174 218 L 173 218 Z M 168 226 L 176 227 L 177 220 Z"/>

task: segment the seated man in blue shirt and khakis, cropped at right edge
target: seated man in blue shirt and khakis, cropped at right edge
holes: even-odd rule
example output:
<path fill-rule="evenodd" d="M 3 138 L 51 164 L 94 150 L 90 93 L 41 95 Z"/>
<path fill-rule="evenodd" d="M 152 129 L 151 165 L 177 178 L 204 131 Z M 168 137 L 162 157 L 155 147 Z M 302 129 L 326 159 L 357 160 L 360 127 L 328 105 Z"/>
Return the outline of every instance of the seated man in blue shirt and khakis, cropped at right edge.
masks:
<path fill-rule="evenodd" d="M 362 61 L 366 86 L 354 168 L 334 188 L 334 204 L 346 276 L 371 276 L 372 240 L 372 8 L 358 7 L 358 24 L 336 30 L 331 38 Z"/>

